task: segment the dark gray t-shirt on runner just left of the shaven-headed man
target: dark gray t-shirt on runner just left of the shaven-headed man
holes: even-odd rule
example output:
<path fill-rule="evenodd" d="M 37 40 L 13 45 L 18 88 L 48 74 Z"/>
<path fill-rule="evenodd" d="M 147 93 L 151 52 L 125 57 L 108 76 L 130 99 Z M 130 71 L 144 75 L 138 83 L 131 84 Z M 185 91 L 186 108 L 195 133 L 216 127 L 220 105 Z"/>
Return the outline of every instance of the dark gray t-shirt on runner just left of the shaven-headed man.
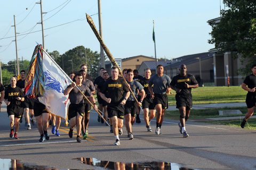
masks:
<path fill-rule="evenodd" d="M 171 79 L 168 75 L 163 74 L 162 77 L 158 77 L 157 74 L 153 75 L 149 79 L 149 86 L 153 86 L 153 92 L 154 94 L 166 94 L 166 89 L 170 87 Z"/>

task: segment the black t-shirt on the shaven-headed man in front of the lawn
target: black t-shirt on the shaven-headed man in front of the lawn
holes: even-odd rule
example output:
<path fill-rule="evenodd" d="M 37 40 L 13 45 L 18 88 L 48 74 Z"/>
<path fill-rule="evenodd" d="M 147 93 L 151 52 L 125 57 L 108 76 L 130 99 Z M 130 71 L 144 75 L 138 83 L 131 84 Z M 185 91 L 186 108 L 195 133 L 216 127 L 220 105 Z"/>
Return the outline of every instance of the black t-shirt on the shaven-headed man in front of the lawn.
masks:
<path fill-rule="evenodd" d="M 182 75 L 178 74 L 172 78 L 171 86 L 181 89 L 179 92 L 180 95 L 189 95 L 191 94 L 191 88 L 185 88 L 185 82 L 189 85 L 198 84 L 194 75 L 186 74 L 185 77 L 183 77 Z"/>

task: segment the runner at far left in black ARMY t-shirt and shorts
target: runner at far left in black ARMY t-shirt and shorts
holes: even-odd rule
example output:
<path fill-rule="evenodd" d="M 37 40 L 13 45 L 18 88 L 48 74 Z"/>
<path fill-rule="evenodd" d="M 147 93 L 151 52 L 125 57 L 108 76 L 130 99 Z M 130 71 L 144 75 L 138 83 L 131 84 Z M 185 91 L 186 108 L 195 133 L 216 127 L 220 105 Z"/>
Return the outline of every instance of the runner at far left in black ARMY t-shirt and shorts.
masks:
<path fill-rule="evenodd" d="M 10 119 L 10 138 L 19 139 L 18 131 L 20 127 L 20 117 L 24 111 L 22 107 L 22 101 L 25 100 L 23 91 L 16 86 L 17 79 L 12 77 L 10 79 L 11 84 L 5 89 L 4 102 L 7 105 L 7 113 Z M 13 126 L 15 124 L 15 133 Z"/>

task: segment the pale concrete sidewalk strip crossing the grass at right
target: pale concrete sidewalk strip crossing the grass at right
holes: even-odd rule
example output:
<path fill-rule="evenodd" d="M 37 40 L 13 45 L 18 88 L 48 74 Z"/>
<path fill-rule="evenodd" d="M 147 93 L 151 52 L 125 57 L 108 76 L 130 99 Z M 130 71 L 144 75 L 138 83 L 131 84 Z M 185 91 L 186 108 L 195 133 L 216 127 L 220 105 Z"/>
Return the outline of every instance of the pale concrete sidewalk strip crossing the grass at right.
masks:
<path fill-rule="evenodd" d="M 223 108 L 223 107 L 246 107 L 245 102 L 239 103 L 214 103 L 193 105 L 193 109 Z M 166 111 L 176 111 L 176 106 L 169 106 Z"/>

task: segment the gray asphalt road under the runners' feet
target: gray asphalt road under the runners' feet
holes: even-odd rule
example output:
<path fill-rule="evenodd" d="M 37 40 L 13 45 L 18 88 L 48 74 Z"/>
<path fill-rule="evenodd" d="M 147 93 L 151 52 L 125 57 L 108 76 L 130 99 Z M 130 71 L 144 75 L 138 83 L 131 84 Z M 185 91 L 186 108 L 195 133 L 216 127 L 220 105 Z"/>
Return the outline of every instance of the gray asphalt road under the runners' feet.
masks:
<path fill-rule="evenodd" d="M 193 114 L 193 112 L 191 112 Z M 100 169 L 82 164 L 76 158 L 97 158 L 111 162 L 168 162 L 193 169 L 255 169 L 256 132 L 225 125 L 188 122 L 188 138 L 182 138 L 177 121 L 165 120 L 162 135 L 146 132 L 145 123 L 134 123 L 134 140 L 128 140 L 125 128 L 121 145 L 115 141 L 109 128 L 97 122 L 91 113 L 88 140 L 77 143 L 68 137 L 68 128 L 61 125 L 60 137 L 39 143 L 36 126 L 25 130 L 24 121 L 18 133 L 19 140 L 9 138 L 9 118 L 6 109 L 0 113 L 0 158 L 18 159 L 31 165 L 58 169 Z M 74 130 L 75 131 L 75 130 Z M 51 129 L 48 130 L 51 133 Z M 75 135 L 74 135 L 75 137 Z M 0 165 L 1 168 L 1 165 Z"/>

